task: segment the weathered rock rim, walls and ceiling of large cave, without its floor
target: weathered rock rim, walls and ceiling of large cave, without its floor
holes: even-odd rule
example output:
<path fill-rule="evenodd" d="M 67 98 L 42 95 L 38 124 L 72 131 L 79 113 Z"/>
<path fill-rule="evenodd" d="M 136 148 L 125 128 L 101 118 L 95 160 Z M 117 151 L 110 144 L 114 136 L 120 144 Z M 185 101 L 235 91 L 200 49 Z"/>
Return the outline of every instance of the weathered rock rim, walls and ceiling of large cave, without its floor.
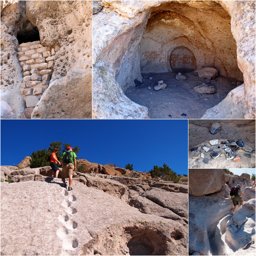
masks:
<path fill-rule="evenodd" d="M 123 92 L 135 86 L 135 79 L 142 81 L 141 72 L 176 70 L 184 59 L 188 67 L 182 68 L 188 70 L 215 67 L 219 74 L 240 81 L 244 73 L 244 90 L 230 94 L 232 100 L 224 113 L 222 108 L 212 110 L 211 118 L 255 117 L 254 1 L 128 3 L 99 1 L 98 7 L 103 8 L 94 8 L 94 118 L 148 118 L 147 109 L 131 102 Z M 244 30 L 249 33 L 241 35 Z"/>

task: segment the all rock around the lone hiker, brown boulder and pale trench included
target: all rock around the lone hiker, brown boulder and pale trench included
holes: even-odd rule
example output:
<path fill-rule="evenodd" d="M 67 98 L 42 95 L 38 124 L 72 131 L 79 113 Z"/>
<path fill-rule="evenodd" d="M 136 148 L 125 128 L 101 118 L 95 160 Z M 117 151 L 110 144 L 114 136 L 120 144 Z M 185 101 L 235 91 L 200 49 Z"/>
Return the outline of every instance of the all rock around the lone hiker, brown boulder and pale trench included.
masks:
<path fill-rule="evenodd" d="M 198 177 L 204 182 L 200 183 Z M 237 184 L 247 196 L 232 216 L 230 189 Z M 189 169 L 189 254 L 254 255 L 255 189 L 253 181 L 221 169 Z"/>

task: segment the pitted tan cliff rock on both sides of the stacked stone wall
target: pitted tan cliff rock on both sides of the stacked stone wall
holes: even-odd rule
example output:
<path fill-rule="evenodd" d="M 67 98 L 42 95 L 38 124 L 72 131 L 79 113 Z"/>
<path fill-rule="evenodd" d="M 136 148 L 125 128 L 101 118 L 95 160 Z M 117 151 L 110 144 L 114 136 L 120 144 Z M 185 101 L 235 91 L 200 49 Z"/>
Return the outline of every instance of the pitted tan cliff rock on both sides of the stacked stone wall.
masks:
<path fill-rule="evenodd" d="M 91 1 L 19 1 L 1 11 L 1 54 L 13 59 L 1 65 L 1 100 L 17 113 L 14 118 L 25 108 L 18 93 L 22 69 L 16 65 L 16 36 L 26 39 L 30 27 L 37 28 L 43 46 L 60 49 L 54 56 L 49 87 L 31 118 L 91 118 Z M 12 41 L 7 42 L 10 34 Z M 17 100 L 12 103 L 10 95 L 23 105 Z"/>

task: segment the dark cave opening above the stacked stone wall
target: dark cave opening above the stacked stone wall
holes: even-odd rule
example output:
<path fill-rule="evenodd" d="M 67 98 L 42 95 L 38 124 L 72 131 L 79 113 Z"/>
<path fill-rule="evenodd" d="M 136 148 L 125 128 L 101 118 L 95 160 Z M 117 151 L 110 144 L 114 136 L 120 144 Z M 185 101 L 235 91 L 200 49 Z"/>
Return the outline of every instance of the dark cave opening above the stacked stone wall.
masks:
<path fill-rule="evenodd" d="M 26 20 L 21 25 L 16 38 L 18 39 L 19 44 L 40 41 L 38 28 L 32 25 L 32 23 L 29 20 Z"/>

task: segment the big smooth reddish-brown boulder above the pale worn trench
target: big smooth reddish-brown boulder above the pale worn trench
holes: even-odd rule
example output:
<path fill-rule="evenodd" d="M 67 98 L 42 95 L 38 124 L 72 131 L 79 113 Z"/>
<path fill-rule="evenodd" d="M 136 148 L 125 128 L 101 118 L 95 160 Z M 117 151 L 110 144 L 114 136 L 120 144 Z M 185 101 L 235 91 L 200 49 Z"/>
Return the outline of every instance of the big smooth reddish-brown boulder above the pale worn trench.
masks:
<path fill-rule="evenodd" d="M 189 169 L 189 195 L 204 196 L 220 191 L 227 181 L 229 176 L 222 169 Z"/>

